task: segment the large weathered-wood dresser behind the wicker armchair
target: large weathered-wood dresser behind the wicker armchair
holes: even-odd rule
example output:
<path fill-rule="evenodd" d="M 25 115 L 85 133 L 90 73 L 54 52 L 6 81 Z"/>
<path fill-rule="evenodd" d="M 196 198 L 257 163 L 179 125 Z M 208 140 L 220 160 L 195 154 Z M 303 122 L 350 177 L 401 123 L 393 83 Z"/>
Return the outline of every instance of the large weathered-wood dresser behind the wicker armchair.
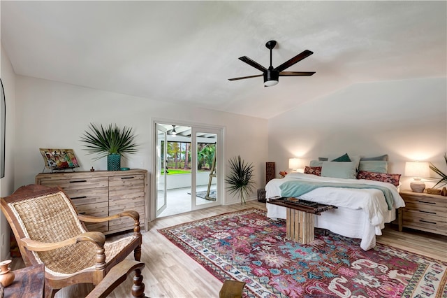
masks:
<path fill-rule="evenodd" d="M 39 173 L 36 184 L 59 185 L 72 199 L 79 213 L 114 215 L 126 210 L 140 213 L 140 227 L 147 230 L 147 171 L 80 171 Z M 133 229 L 131 218 L 87 224 L 89 231 L 112 234 Z"/>

